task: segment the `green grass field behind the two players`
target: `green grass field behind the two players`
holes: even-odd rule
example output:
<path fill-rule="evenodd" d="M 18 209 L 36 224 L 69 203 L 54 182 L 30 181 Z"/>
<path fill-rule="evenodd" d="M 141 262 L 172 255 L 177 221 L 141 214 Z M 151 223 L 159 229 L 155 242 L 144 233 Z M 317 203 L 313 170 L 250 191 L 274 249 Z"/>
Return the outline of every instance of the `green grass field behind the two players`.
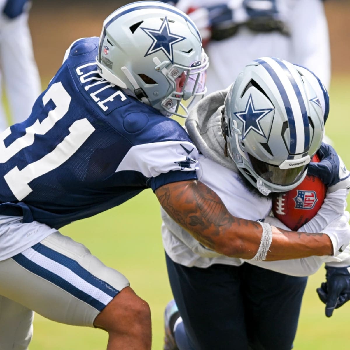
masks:
<path fill-rule="evenodd" d="M 334 77 L 326 130 L 349 167 L 348 93 L 345 77 Z M 163 309 L 172 297 L 165 268 L 160 224 L 158 202 L 152 191 L 146 190 L 118 208 L 75 222 L 61 230 L 63 234 L 84 243 L 106 265 L 124 273 L 138 295 L 148 301 L 153 320 L 153 350 L 162 349 Z M 323 279 L 323 268 L 309 278 L 294 342 L 295 350 L 350 348 L 350 302 L 335 310 L 331 318 L 326 318 L 324 305 L 315 292 Z M 107 335 L 102 330 L 58 324 L 36 315 L 30 350 L 97 350 L 105 349 L 106 341 Z"/>

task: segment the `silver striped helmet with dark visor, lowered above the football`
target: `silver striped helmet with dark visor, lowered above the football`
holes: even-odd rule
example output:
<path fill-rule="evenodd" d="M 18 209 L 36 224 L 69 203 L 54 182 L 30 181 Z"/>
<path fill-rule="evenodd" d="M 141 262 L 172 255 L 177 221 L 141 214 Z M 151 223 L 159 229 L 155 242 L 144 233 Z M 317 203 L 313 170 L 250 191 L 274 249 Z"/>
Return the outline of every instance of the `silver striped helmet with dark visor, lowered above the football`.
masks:
<path fill-rule="evenodd" d="M 278 58 L 256 59 L 225 99 L 229 153 L 262 194 L 288 191 L 306 176 L 328 111 L 327 90 L 308 69 Z"/>

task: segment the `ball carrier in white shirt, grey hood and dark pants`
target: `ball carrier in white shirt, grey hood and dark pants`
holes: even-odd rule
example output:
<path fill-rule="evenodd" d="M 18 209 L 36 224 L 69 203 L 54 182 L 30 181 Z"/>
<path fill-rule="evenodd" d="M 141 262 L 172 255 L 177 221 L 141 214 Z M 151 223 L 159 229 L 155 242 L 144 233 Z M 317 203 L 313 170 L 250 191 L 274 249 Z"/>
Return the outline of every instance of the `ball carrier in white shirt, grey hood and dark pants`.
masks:
<path fill-rule="evenodd" d="M 276 58 L 255 59 L 230 89 L 209 94 L 186 120 L 201 152 L 198 180 L 215 190 L 234 216 L 265 219 L 287 229 L 268 216 L 271 194 L 295 187 L 308 167 L 328 192 L 300 231 L 349 232 L 349 172 L 341 169 L 337 156 L 330 156 L 328 167 L 338 169 L 337 179 L 343 179 L 335 184 L 324 173 L 327 166 L 309 162 L 323 137 L 328 104 L 324 86 L 306 68 Z M 332 152 L 322 144 L 318 155 L 324 159 Z M 324 262 L 327 282 L 317 292 L 326 303 L 326 315 L 350 299 L 349 246 L 333 257 L 273 262 L 228 258 L 198 243 L 164 210 L 162 219 L 176 301 L 165 311 L 164 350 L 291 349 L 306 276 Z"/>

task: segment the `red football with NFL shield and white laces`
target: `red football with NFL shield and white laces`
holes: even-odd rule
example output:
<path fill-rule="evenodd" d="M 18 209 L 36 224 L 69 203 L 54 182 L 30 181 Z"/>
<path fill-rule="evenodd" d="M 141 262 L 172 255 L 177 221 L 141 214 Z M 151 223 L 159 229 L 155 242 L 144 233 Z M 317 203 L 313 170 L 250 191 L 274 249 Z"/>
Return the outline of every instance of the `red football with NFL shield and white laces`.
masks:
<path fill-rule="evenodd" d="M 312 161 L 320 159 L 315 155 Z M 327 187 L 318 177 L 307 175 L 299 186 L 272 201 L 273 215 L 290 230 L 297 231 L 316 215 L 326 193 Z"/>

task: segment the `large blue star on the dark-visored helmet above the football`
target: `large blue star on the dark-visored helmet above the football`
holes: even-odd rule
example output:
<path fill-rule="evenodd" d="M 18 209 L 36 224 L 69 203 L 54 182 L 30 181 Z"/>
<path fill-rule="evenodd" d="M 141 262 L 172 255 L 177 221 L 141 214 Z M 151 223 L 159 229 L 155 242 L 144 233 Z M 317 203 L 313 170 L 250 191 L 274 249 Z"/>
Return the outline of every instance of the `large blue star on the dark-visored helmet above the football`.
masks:
<path fill-rule="evenodd" d="M 268 109 L 260 109 L 256 110 L 254 108 L 254 103 L 252 99 L 252 94 L 250 94 L 248 98 L 247 105 L 245 107 L 245 111 L 241 112 L 233 112 L 235 116 L 242 121 L 243 123 L 243 136 L 242 140 L 247 136 L 248 132 L 254 130 L 259 135 L 267 138 L 264 134 L 264 131 L 261 129 L 260 120 L 266 116 L 267 113 L 271 112 L 273 108 Z"/>

